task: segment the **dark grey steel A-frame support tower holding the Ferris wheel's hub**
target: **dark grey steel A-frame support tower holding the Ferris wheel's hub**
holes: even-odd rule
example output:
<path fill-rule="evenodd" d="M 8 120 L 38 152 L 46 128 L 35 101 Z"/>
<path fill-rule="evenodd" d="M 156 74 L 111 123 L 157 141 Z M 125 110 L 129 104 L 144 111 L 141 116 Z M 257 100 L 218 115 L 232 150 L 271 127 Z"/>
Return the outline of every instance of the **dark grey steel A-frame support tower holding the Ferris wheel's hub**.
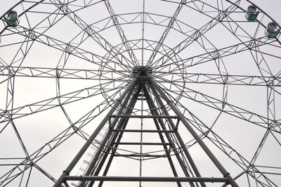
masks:
<path fill-rule="evenodd" d="M 190 124 L 181 112 L 176 108 L 176 105 L 166 96 L 164 91 L 150 76 L 152 68 L 148 66 L 138 66 L 133 68 L 133 79 L 128 84 L 122 95 L 115 101 L 112 108 L 98 125 L 88 141 L 81 148 L 79 153 L 74 157 L 70 165 L 63 171 L 54 187 L 70 186 L 70 181 L 80 181 L 78 186 L 103 186 L 105 181 L 136 181 L 139 186 L 142 186 L 143 181 L 150 182 L 172 182 L 174 186 L 182 186 L 183 183 L 188 183 L 189 186 L 207 186 L 207 183 L 221 183 L 221 185 L 238 186 L 235 180 L 230 176 L 226 169 L 216 159 L 214 154 L 209 150 L 208 146 L 202 141 L 202 138 L 197 135 Z M 164 104 L 164 101 L 167 105 Z M 133 113 L 133 108 L 136 103 L 141 102 L 141 115 Z M 143 113 L 143 105 L 146 103 L 149 108 L 148 115 Z M 175 115 L 170 115 L 173 112 Z M 141 119 L 141 128 L 132 129 L 129 127 L 130 120 Z M 143 122 L 145 119 L 152 120 L 155 125 L 155 130 L 144 129 Z M 83 176 L 70 176 L 72 169 L 81 160 L 81 157 L 86 153 L 86 150 L 91 146 L 96 136 L 106 125 L 109 124 L 108 131 L 105 134 L 103 141 L 93 155 L 89 167 L 87 167 Z M 210 158 L 214 166 L 221 172 L 221 176 L 201 176 L 192 155 L 186 148 L 183 138 L 178 132 L 178 125 L 183 125 L 196 143 L 204 150 L 204 153 Z M 158 134 L 159 142 L 144 142 L 143 138 L 138 142 L 124 142 L 122 136 L 126 133 L 141 134 Z M 140 146 L 140 153 L 125 154 L 117 153 L 119 146 Z M 143 146 L 162 146 L 164 155 L 157 153 L 143 154 Z M 139 176 L 107 176 L 115 157 L 135 157 L 140 162 Z M 166 158 L 171 167 L 171 172 L 174 176 L 142 176 L 142 162 L 145 157 Z M 176 168 L 175 162 L 180 166 Z M 185 176 L 179 176 L 178 170 Z"/>

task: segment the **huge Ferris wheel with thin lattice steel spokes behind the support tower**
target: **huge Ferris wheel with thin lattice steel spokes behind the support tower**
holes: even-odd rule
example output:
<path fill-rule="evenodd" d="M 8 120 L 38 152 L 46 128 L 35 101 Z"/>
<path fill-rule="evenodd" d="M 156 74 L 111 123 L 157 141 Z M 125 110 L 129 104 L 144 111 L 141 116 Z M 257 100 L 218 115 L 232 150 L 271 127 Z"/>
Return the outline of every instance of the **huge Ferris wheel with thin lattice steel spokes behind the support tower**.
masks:
<path fill-rule="evenodd" d="M 256 21 L 247 21 L 249 1 L 135 3 L 21 1 L 11 9 L 18 27 L 1 18 L 0 136 L 7 151 L 0 184 L 22 177 L 32 186 L 37 176 L 53 183 L 133 68 L 147 65 L 241 186 L 277 186 L 281 44 L 280 34 L 264 34 L 275 21 L 261 8 Z M 185 143 L 197 153 L 192 138 Z M 66 150 L 67 157 L 58 156 Z"/>

